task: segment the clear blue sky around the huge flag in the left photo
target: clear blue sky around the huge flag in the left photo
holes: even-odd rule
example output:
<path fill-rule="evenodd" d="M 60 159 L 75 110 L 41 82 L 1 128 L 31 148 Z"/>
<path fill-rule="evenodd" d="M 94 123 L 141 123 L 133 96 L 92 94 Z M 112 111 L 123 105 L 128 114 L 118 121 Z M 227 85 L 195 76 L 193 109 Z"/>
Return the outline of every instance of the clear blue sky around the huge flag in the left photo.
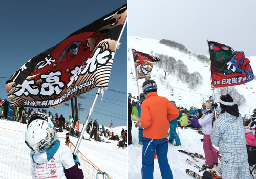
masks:
<path fill-rule="evenodd" d="M 97 3 L 96 3 L 97 2 Z M 71 33 L 121 7 L 127 1 L 4 1 L 1 3 L 0 27 L 0 98 L 7 99 L 5 82 L 32 57 L 55 46 Z M 100 125 L 127 126 L 127 25 L 116 50 L 109 81 L 103 100 L 98 98 L 91 118 Z M 3 78 L 4 77 L 4 78 Z M 83 123 L 88 115 L 97 88 L 84 93 L 79 99 Z M 71 104 L 70 101 L 67 102 Z M 71 105 L 70 105 L 71 106 Z M 68 119 L 71 107 L 60 105 L 47 111 L 63 114 Z"/>

